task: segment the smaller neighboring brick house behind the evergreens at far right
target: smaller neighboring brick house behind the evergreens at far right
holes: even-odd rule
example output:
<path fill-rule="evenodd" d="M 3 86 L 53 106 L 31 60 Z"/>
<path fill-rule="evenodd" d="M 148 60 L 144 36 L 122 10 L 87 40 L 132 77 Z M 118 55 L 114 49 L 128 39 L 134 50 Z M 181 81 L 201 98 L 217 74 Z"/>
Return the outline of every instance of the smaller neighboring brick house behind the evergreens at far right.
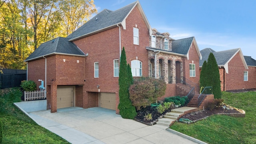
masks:
<path fill-rule="evenodd" d="M 219 52 L 205 48 L 200 52 L 202 54 L 200 68 L 204 61 L 207 61 L 210 52 L 214 54 L 219 67 L 222 91 L 256 88 L 256 61 L 251 57 L 243 56 L 240 48 Z"/>

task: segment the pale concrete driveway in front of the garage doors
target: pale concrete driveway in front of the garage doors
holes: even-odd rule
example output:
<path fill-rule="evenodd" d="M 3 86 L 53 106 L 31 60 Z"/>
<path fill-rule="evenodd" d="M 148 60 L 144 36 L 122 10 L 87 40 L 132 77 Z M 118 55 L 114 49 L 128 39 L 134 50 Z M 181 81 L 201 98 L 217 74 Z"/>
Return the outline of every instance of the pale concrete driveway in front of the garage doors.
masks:
<path fill-rule="evenodd" d="M 79 107 L 29 112 L 36 123 L 72 144 L 197 144 L 168 130 L 123 119 L 114 110 Z M 191 137 L 190 137 L 191 138 Z M 195 142 L 196 141 L 196 142 Z"/>

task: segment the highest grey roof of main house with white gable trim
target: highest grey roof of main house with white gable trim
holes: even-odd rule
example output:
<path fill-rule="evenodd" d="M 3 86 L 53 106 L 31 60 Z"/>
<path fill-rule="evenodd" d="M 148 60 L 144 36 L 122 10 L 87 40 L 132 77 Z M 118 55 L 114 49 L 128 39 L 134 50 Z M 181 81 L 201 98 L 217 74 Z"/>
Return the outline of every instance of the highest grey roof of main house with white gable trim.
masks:
<path fill-rule="evenodd" d="M 89 34 L 94 34 L 102 30 L 116 27 L 117 25 L 122 25 L 123 28 L 126 29 L 125 20 L 130 14 L 130 12 L 135 8 L 135 6 L 138 7 L 148 29 L 151 31 L 150 24 L 146 18 L 146 15 L 144 14 L 140 6 L 140 3 L 136 1 L 115 11 L 107 9 L 102 10 L 100 13 L 91 18 L 80 28 L 75 30 L 72 34 L 67 36 L 67 38 L 69 38 L 70 41 L 76 40 Z"/>

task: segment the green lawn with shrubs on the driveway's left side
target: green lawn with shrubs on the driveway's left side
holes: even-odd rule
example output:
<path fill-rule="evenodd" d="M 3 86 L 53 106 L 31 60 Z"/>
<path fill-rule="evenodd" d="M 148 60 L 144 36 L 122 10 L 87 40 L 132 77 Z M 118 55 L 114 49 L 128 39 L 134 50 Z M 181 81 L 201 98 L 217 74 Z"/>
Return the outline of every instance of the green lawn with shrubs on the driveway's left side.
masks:
<path fill-rule="evenodd" d="M 16 108 L 13 102 L 20 102 L 20 96 L 19 88 L 0 91 L 0 121 L 4 124 L 2 144 L 69 144 Z"/>

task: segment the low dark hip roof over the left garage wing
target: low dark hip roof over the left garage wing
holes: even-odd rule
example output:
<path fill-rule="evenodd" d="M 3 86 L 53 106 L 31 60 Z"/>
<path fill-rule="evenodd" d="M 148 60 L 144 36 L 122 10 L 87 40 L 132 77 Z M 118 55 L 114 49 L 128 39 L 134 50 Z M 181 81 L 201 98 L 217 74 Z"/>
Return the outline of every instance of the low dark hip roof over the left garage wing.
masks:
<path fill-rule="evenodd" d="M 73 56 L 85 56 L 73 42 L 68 41 L 68 38 L 58 37 L 48 42 L 42 43 L 26 61 L 35 60 L 52 54 L 64 54 Z"/>

